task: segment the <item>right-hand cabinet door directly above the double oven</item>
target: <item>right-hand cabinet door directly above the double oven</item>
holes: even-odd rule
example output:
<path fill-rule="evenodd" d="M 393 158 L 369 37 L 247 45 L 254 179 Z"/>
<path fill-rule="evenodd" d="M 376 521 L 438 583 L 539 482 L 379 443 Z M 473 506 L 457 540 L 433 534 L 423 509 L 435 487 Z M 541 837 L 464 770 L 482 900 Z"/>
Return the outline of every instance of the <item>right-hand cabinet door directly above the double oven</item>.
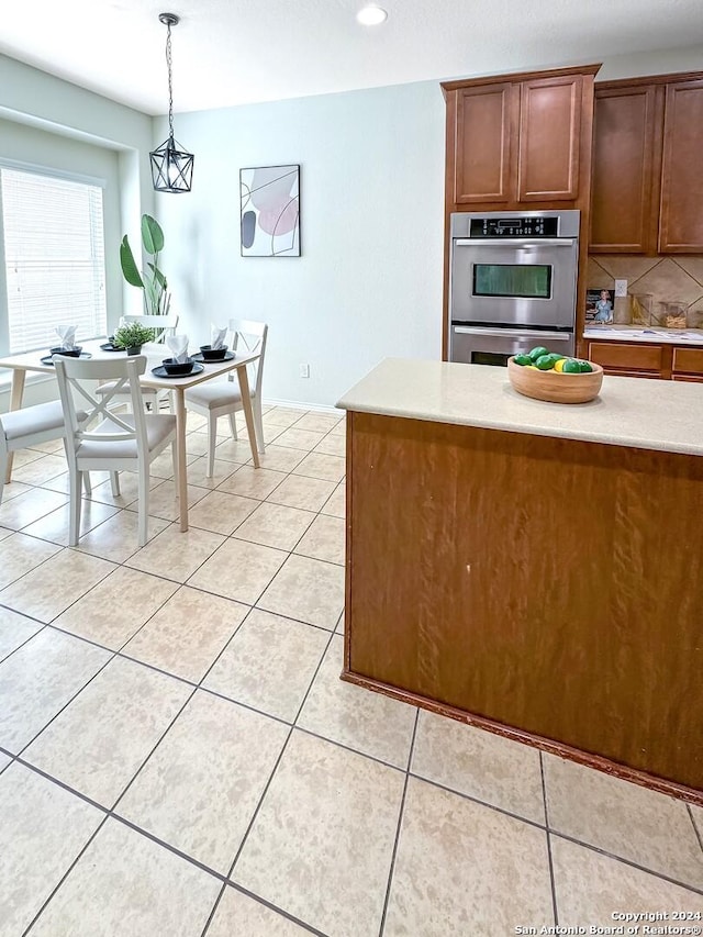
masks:
<path fill-rule="evenodd" d="M 582 88 L 580 75 L 522 82 L 518 201 L 578 198 Z"/>

